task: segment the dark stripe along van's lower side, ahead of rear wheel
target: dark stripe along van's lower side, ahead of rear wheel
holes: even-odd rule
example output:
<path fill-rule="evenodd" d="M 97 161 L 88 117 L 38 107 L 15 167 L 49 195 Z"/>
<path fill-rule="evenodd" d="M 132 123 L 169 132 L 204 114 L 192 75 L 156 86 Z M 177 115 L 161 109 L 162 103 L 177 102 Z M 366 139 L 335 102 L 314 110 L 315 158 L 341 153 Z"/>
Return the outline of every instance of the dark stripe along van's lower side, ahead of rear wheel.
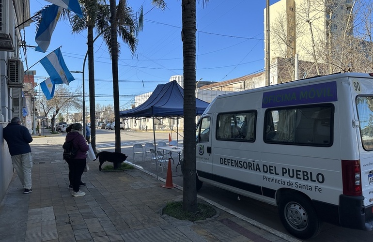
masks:
<path fill-rule="evenodd" d="M 232 187 L 244 190 L 244 191 L 248 191 L 250 193 L 255 193 L 255 194 L 263 195 L 265 197 L 275 198 L 276 190 L 273 190 L 267 187 L 261 187 L 258 185 L 233 180 L 230 178 L 214 175 L 208 172 L 203 172 L 201 170 L 197 170 L 197 173 L 199 177 L 203 177 L 208 180 L 217 181 L 219 183 L 229 185 L 229 186 L 232 186 Z"/>

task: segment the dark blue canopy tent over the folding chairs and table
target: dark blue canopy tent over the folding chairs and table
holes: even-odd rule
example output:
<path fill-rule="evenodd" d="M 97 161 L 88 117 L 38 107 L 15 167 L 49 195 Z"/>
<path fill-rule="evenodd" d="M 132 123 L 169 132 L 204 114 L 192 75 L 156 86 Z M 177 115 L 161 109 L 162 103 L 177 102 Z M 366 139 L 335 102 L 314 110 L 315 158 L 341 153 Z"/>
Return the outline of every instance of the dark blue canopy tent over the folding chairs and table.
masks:
<path fill-rule="evenodd" d="M 196 115 L 202 115 L 209 103 L 196 98 Z M 167 84 L 157 85 L 152 95 L 140 106 L 126 111 L 120 111 L 121 118 L 153 118 L 154 147 L 155 144 L 155 123 L 157 118 L 176 118 L 184 116 L 184 90 L 173 80 Z M 157 163 L 157 161 L 156 161 Z M 156 164 L 157 178 L 158 166 Z"/>

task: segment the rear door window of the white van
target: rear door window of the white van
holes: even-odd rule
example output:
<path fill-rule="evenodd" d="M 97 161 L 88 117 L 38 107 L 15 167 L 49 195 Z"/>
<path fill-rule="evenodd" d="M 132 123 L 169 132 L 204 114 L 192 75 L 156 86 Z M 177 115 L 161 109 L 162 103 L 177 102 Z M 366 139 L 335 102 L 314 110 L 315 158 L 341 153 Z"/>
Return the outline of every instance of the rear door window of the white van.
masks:
<path fill-rule="evenodd" d="M 373 96 L 359 96 L 356 99 L 360 135 L 364 150 L 373 150 Z"/>

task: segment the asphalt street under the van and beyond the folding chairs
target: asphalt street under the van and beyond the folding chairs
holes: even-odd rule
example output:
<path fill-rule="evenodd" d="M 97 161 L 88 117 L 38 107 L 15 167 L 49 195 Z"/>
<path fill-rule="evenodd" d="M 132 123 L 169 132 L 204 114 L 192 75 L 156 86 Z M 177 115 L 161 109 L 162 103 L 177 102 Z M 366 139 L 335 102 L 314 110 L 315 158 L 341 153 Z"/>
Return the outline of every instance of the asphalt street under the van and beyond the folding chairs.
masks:
<path fill-rule="evenodd" d="M 176 137 L 174 137 L 176 139 Z M 97 130 L 97 149 L 98 150 L 108 150 L 114 151 L 115 143 L 114 140 L 114 131 L 104 131 Z M 122 152 L 129 155 L 128 161 L 133 163 L 136 166 L 140 166 L 154 174 L 156 174 L 155 166 L 151 165 L 147 161 L 141 161 L 137 159 L 133 161 L 132 158 L 132 146 L 134 144 L 140 143 L 145 144 L 148 142 L 154 142 L 152 132 L 121 132 L 121 147 Z M 156 133 L 156 141 L 166 141 L 168 142 L 168 133 Z M 182 144 L 182 138 L 179 138 L 179 143 Z M 174 156 L 175 161 L 177 157 Z M 180 169 L 177 172 L 174 169 L 175 165 L 172 166 L 172 181 L 175 184 L 183 186 L 183 176 Z M 163 171 L 158 175 L 161 178 L 166 179 L 167 172 Z M 262 223 L 268 227 L 272 227 L 280 232 L 288 234 L 280 222 L 278 215 L 277 207 L 268 205 L 263 202 L 259 202 L 255 199 L 248 197 L 242 197 L 241 200 L 237 200 L 237 195 L 226 190 L 203 184 L 202 189 L 198 192 L 198 195 L 206 197 L 217 204 L 220 204 L 234 212 L 240 213 L 246 217 L 249 217 L 259 223 Z M 313 239 L 307 240 L 308 242 L 351 242 L 351 241 L 361 241 L 361 242 L 373 242 L 373 232 L 348 229 L 337 227 L 331 224 L 324 223 L 321 233 Z"/>

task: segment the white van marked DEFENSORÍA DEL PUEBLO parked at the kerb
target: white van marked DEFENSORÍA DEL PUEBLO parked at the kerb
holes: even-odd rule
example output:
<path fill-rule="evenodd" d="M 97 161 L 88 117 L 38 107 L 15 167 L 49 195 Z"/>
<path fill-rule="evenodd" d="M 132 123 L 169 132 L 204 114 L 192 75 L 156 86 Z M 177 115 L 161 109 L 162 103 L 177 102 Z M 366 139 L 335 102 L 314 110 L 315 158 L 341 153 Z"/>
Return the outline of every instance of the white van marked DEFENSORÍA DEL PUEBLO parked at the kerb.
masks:
<path fill-rule="evenodd" d="M 373 74 L 334 74 L 218 96 L 197 124 L 207 182 L 279 207 L 294 236 L 322 222 L 373 228 Z"/>

